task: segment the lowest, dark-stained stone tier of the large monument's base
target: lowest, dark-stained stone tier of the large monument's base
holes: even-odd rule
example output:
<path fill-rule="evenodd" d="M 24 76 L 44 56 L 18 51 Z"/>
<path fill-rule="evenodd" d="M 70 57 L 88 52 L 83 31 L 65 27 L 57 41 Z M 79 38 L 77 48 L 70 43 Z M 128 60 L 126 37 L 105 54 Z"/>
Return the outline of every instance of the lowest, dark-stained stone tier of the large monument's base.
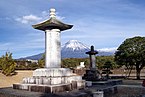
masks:
<path fill-rule="evenodd" d="M 71 84 L 60 85 L 13 84 L 13 88 L 34 92 L 57 93 L 77 89 L 77 82 L 74 81 Z"/>

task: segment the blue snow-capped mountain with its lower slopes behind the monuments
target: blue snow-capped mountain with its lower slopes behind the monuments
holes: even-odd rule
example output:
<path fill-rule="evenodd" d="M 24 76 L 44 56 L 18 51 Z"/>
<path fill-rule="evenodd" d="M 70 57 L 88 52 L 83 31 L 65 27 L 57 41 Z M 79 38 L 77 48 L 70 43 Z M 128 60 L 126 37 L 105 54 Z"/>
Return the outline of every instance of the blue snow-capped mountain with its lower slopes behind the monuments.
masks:
<path fill-rule="evenodd" d="M 64 45 L 61 46 L 61 57 L 62 58 L 86 58 L 88 57 L 86 52 L 90 51 L 90 47 L 79 42 L 78 40 L 69 40 Z M 97 56 L 110 56 L 113 55 L 114 51 L 107 51 L 104 49 L 98 49 L 99 53 Z M 28 56 L 25 58 L 20 59 L 32 59 L 32 60 L 39 60 L 42 58 L 43 53 L 33 56 Z"/>

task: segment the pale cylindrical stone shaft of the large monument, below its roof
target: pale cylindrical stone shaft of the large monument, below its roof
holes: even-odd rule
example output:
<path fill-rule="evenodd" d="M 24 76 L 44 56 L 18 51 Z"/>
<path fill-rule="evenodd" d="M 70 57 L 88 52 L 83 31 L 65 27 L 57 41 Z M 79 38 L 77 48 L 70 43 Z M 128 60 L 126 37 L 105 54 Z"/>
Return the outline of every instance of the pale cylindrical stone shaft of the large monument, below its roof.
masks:
<path fill-rule="evenodd" d="M 45 67 L 61 67 L 60 30 L 45 30 Z"/>

